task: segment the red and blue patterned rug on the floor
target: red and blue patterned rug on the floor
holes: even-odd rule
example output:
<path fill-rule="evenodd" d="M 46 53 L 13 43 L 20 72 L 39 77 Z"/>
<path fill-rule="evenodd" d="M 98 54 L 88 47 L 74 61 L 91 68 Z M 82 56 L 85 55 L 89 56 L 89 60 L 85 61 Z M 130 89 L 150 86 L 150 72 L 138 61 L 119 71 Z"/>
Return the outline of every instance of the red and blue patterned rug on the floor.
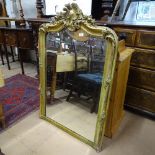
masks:
<path fill-rule="evenodd" d="M 4 105 L 7 126 L 39 108 L 38 86 L 37 79 L 21 74 L 5 80 L 5 86 L 0 88 L 0 104 Z"/>

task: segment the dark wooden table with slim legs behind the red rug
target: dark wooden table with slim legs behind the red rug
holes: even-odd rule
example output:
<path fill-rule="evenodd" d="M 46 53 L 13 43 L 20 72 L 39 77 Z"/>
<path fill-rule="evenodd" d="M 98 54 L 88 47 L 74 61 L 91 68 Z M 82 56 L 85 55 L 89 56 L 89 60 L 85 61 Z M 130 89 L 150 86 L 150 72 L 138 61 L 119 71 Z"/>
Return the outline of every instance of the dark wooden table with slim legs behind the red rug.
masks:
<path fill-rule="evenodd" d="M 11 67 L 8 58 L 7 46 L 18 48 L 22 74 L 24 74 L 24 67 L 23 67 L 24 52 L 28 49 L 29 50 L 35 49 L 32 29 L 30 27 L 22 28 L 15 26 L 0 27 L 0 45 L 4 46 L 8 69 L 11 69 Z"/>

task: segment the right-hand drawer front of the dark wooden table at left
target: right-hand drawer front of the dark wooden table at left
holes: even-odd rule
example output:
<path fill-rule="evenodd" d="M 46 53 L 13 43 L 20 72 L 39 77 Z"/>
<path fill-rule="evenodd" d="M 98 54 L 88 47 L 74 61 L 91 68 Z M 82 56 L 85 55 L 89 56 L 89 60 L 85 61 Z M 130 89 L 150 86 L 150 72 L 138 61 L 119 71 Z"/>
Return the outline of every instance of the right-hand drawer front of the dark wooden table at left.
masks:
<path fill-rule="evenodd" d="M 33 48 L 33 36 L 31 31 L 19 31 L 18 32 L 19 37 L 19 47 L 20 48 L 26 48 L 26 49 L 32 49 Z"/>

